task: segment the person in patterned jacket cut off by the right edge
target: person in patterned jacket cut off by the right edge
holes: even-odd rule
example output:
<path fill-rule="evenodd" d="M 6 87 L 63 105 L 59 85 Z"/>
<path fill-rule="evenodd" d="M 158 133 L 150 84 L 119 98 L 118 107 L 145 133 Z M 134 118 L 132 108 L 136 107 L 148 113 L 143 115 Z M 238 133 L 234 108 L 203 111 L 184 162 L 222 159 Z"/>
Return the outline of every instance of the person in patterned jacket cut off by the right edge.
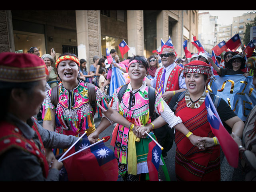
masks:
<path fill-rule="evenodd" d="M 249 70 L 253 70 L 253 85 L 256 88 L 256 57 L 246 61 Z M 232 136 L 238 144 L 241 164 L 245 172 L 245 181 L 256 181 L 256 106 L 248 114 L 242 140 L 235 133 Z"/>

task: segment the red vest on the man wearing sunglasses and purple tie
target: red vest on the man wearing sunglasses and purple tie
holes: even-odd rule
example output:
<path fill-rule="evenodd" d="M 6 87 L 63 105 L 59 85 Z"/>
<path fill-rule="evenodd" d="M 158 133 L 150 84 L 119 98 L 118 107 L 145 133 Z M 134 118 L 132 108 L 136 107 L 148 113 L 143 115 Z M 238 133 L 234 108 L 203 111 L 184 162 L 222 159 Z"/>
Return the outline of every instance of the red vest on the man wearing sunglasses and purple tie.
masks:
<path fill-rule="evenodd" d="M 160 80 L 161 80 L 161 76 L 162 76 L 162 72 L 163 72 L 164 68 L 161 68 L 158 73 L 157 73 L 157 78 L 156 78 L 156 90 L 158 90 L 159 86 L 160 86 Z M 176 67 L 172 70 L 172 72 L 170 73 L 169 77 L 168 77 L 168 81 L 166 83 L 166 88 L 165 88 L 165 92 L 166 91 L 175 91 L 175 90 L 179 90 L 180 86 L 179 86 L 179 76 L 182 72 L 183 68 L 181 66 L 176 65 Z M 172 98 L 170 98 L 171 100 Z M 170 102 L 169 100 L 169 102 Z"/>

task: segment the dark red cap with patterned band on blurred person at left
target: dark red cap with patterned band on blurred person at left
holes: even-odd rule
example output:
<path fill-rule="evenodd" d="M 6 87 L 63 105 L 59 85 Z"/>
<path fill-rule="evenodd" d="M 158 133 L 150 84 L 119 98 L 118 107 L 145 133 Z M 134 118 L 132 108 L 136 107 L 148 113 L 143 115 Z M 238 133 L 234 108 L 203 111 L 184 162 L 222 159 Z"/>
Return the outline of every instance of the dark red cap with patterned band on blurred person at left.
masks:
<path fill-rule="evenodd" d="M 46 78 L 44 61 L 34 54 L 0 53 L 0 80 L 32 82 Z"/>

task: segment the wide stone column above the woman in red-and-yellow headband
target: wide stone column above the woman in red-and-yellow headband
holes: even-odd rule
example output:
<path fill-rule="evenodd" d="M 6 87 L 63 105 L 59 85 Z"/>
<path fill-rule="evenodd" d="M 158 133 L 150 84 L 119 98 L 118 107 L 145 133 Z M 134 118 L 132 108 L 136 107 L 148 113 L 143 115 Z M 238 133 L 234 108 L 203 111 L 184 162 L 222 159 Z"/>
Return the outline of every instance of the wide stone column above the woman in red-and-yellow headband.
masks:
<path fill-rule="evenodd" d="M 87 61 L 87 70 L 93 64 L 92 58 L 101 53 L 100 11 L 76 10 L 76 33 L 78 58 Z"/>

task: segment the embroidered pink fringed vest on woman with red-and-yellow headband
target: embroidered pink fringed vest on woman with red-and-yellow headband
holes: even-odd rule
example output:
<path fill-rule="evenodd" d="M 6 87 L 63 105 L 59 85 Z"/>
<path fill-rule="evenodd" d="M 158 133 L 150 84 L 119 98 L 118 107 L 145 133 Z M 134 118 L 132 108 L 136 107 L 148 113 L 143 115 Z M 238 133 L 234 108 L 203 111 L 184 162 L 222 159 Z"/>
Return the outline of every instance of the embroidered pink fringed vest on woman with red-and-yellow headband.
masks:
<path fill-rule="evenodd" d="M 49 95 L 51 96 L 51 91 Z M 56 132 L 63 134 L 64 130 L 72 130 L 73 135 L 82 134 L 86 129 L 92 128 L 93 109 L 90 106 L 88 88 L 86 83 L 80 82 L 78 86 L 68 91 L 63 84 L 59 84 L 59 102 L 56 108 Z"/>

